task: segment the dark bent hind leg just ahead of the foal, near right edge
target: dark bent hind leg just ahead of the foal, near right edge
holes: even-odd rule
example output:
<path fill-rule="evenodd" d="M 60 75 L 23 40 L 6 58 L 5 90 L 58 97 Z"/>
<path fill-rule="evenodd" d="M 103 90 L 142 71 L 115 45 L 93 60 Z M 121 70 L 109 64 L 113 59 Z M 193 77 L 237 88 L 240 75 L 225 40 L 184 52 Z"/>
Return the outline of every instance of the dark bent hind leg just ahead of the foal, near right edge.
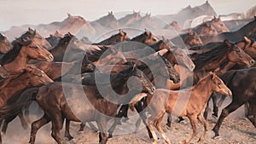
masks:
<path fill-rule="evenodd" d="M 222 110 L 222 112 L 221 112 L 221 114 L 220 114 L 220 116 L 218 118 L 217 123 L 215 124 L 215 126 L 212 129 L 214 131 L 214 133 L 215 133 L 214 137 L 219 136 L 218 130 L 220 128 L 220 125 L 223 123 L 224 118 L 226 118 L 231 112 L 236 111 L 236 109 L 238 107 L 241 107 L 241 105 L 243 105 L 243 103 L 244 102 L 240 102 L 239 104 L 237 104 L 236 101 L 234 101 L 234 97 L 233 97 L 233 101 L 230 103 L 229 106 L 225 107 Z"/>

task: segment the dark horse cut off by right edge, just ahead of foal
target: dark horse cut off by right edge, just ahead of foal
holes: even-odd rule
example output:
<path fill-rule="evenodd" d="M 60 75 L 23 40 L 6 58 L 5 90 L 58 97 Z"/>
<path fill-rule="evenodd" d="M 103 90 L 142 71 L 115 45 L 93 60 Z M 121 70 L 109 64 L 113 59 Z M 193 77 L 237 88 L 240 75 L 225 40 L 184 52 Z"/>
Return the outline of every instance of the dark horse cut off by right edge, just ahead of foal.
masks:
<path fill-rule="evenodd" d="M 249 102 L 250 104 L 250 111 L 248 112 L 249 116 L 247 118 L 252 122 L 254 127 L 256 127 L 255 73 L 256 68 L 252 67 L 241 70 L 232 70 L 230 72 L 224 73 L 224 75 L 221 76 L 224 83 L 232 91 L 233 95 L 231 103 L 222 110 L 221 115 L 218 118 L 217 124 L 215 124 L 213 128 L 215 136 L 219 136 L 218 131 L 224 121 L 224 118 L 226 118 L 231 112 L 236 111 L 238 107 L 241 107 L 247 102 Z"/>

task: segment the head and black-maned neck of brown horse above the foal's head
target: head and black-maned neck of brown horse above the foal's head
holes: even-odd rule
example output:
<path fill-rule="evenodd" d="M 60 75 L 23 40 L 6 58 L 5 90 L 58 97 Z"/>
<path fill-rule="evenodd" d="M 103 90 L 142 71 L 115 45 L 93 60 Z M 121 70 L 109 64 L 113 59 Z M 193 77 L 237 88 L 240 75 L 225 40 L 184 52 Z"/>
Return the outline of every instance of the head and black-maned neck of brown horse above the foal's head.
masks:
<path fill-rule="evenodd" d="M 221 64 L 226 60 L 229 61 L 224 68 L 221 69 Z M 236 63 L 246 65 L 247 67 L 253 66 L 254 60 L 251 56 L 247 55 L 242 49 L 236 46 L 235 43 L 230 43 L 224 40 L 224 43 L 217 48 L 212 49 L 206 53 L 195 56 L 195 72 L 198 71 L 219 71 L 226 72 Z"/>

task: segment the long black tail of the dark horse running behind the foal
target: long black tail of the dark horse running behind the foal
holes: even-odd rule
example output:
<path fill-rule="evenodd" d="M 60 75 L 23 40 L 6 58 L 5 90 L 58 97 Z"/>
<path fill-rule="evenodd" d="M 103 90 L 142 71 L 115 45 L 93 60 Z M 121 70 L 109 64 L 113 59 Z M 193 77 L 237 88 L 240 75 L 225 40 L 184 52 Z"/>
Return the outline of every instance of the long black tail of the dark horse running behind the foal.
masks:
<path fill-rule="evenodd" d="M 35 101 L 36 95 L 38 94 L 38 87 L 32 87 L 23 90 L 20 93 L 20 97 L 14 103 L 7 105 L 0 110 L 0 119 L 9 118 L 10 116 L 18 115 L 20 110 L 26 105 L 31 104 L 32 101 Z"/>

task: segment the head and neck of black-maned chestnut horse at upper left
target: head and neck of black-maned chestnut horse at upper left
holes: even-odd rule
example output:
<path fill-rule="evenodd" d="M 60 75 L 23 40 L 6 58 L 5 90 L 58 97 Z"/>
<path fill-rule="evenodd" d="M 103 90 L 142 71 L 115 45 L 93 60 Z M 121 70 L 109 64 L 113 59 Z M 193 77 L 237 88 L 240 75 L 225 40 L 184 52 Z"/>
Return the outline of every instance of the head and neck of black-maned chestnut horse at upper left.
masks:
<path fill-rule="evenodd" d="M 0 64 L 7 72 L 12 73 L 22 70 L 32 59 L 53 60 L 53 55 L 48 50 L 30 39 L 19 38 L 13 42 L 13 45 L 14 49 L 3 55 L 0 60 Z"/>

